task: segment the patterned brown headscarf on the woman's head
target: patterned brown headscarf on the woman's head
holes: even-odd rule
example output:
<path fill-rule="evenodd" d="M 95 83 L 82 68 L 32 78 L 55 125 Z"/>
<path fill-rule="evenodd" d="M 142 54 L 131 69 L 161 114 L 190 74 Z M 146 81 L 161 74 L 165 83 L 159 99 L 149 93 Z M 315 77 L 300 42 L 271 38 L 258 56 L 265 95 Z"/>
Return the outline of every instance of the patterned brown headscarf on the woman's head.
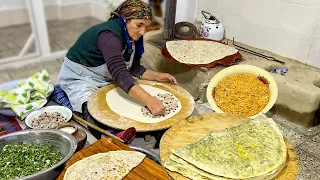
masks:
<path fill-rule="evenodd" d="M 111 17 L 122 17 L 125 20 L 152 20 L 152 11 L 149 5 L 142 0 L 126 0 L 111 13 Z"/>

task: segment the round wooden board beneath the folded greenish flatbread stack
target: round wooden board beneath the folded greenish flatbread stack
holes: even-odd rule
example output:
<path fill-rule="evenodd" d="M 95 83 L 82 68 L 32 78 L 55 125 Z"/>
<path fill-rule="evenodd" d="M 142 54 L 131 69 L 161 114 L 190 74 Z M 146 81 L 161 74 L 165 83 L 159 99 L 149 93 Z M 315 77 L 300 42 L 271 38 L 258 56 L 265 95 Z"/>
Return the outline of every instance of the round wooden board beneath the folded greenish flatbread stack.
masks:
<path fill-rule="evenodd" d="M 238 115 L 227 114 L 204 114 L 201 116 L 192 116 L 187 120 L 180 121 L 172 126 L 162 136 L 160 141 L 160 158 L 164 163 L 171 154 L 170 149 L 183 147 L 195 143 L 211 132 L 217 132 L 226 128 L 235 127 L 246 123 L 250 119 Z M 293 146 L 286 141 L 288 149 L 287 162 L 282 171 L 275 179 L 293 180 L 298 175 L 297 155 Z M 179 173 L 167 170 L 170 176 L 175 180 L 187 180 L 188 178 Z"/>

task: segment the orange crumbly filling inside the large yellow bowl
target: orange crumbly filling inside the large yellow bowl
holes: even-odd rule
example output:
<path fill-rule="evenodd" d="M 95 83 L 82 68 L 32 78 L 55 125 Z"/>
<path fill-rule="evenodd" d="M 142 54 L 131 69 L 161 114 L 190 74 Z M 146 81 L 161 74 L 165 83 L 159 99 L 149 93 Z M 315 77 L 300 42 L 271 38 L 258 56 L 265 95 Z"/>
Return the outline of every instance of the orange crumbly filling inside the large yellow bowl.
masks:
<path fill-rule="evenodd" d="M 213 92 L 218 107 L 228 114 L 253 116 L 269 102 L 269 88 L 256 76 L 238 74 L 218 83 Z"/>

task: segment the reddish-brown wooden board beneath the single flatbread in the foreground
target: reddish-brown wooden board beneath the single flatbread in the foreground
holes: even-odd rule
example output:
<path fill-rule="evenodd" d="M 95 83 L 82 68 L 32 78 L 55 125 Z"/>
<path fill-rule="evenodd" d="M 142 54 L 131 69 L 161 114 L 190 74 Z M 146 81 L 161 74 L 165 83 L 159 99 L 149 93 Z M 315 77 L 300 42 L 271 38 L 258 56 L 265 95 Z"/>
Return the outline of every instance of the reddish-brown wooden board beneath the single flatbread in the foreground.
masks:
<path fill-rule="evenodd" d="M 75 153 L 67 162 L 64 170 L 62 173 L 59 175 L 57 180 L 63 180 L 64 174 L 68 167 L 70 167 L 72 164 L 76 163 L 77 161 L 97 154 L 97 153 L 104 153 L 108 151 L 116 151 L 116 150 L 127 150 L 127 151 L 134 151 L 127 145 L 114 140 L 109 137 L 105 137 L 96 143 L 82 149 L 81 151 Z M 89 168 L 89 167 L 88 167 Z M 167 180 L 169 179 L 165 169 L 160 166 L 159 164 L 155 163 L 151 159 L 145 157 L 144 160 L 130 173 L 124 178 L 124 180 L 150 180 L 150 179 L 157 179 L 157 180 Z"/>

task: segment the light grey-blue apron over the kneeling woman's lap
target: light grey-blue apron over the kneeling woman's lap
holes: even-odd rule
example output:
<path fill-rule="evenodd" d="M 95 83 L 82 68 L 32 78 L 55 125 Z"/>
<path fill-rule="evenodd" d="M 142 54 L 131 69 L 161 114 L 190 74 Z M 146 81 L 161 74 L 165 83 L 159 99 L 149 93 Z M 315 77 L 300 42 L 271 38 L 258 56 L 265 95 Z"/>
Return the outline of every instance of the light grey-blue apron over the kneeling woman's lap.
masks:
<path fill-rule="evenodd" d="M 135 54 L 132 46 L 130 60 L 126 63 L 131 68 Z M 125 53 L 126 49 L 123 51 Z M 97 67 L 86 67 L 65 57 L 59 74 L 59 84 L 67 94 L 72 108 L 82 113 L 82 104 L 89 100 L 93 92 L 113 82 L 106 63 Z"/>

